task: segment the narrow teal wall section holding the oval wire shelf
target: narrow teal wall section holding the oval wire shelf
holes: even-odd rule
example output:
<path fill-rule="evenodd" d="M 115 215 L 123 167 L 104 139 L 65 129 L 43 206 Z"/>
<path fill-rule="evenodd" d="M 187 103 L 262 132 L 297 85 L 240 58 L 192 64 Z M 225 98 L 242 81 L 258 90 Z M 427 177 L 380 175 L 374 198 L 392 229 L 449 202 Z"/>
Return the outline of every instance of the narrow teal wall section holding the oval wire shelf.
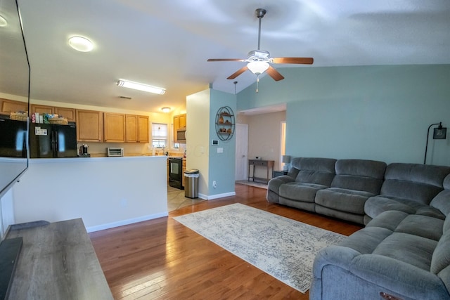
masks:
<path fill-rule="evenodd" d="M 236 95 L 222 91 L 210 90 L 210 140 L 219 140 L 219 145 L 212 146 L 210 141 L 210 169 L 209 169 L 209 194 L 218 195 L 234 193 L 236 136 L 229 141 L 221 141 L 217 137 L 215 120 L 220 107 L 229 106 L 236 113 Z M 235 115 L 236 118 L 236 115 Z M 218 153 L 217 149 L 223 152 Z M 212 181 L 217 181 L 217 188 L 212 186 Z"/>

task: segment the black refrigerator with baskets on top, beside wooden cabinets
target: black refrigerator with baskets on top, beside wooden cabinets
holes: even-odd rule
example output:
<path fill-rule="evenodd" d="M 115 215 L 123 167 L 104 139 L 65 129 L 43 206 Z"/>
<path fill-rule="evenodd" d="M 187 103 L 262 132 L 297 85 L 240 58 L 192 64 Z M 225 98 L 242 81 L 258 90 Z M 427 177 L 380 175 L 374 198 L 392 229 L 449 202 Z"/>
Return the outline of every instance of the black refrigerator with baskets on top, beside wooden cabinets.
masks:
<path fill-rule="evenodd" d="M 75 124 L 30 124 L 30 158 L 77 156 Z"/>

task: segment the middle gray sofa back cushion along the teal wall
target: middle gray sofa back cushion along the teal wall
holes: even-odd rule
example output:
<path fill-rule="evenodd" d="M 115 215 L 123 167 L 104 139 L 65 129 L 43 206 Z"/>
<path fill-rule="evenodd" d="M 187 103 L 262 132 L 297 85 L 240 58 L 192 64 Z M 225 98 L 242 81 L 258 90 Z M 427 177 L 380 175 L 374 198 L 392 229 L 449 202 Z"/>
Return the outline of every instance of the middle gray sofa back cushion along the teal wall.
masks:
<path fill-rule="evenodd" d="M 338 159 L 332 188 L 363 190 L 373 195 L 380 193 L 386 163 L 368 159 Z"/>

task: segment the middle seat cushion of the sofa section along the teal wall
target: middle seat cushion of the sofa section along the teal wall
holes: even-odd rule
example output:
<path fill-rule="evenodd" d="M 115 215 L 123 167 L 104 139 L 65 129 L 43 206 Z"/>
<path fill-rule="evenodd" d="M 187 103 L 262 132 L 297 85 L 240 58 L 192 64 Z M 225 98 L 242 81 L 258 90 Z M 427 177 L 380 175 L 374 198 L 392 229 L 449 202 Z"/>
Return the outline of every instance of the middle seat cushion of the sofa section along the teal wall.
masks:
<path fill-rule="evenodd" d="M 317 191 L 316 204 L 352 214 L 364 214 L 364 204 L 367 198 L 371 196 L 373 196 L 372 193 L 361 190 L 327 188 Z"/>

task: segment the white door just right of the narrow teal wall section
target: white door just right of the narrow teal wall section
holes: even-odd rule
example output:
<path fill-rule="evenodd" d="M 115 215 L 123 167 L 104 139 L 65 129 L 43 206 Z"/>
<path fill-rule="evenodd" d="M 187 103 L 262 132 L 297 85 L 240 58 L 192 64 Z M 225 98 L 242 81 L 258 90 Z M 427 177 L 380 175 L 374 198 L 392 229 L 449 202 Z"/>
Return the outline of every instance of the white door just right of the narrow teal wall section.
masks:
<path fill-rule="evenodd" d="M 236 124 L 235 180 L 245 179 L 248 179 L 248 124 Z"/>

